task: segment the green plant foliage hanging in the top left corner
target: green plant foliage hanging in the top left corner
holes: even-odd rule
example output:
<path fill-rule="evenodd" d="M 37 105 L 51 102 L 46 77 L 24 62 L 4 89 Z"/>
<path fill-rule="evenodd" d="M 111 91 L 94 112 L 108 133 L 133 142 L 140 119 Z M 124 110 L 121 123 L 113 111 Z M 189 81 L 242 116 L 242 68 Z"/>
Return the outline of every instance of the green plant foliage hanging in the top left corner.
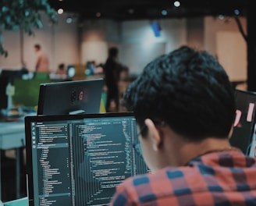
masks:
<path fill-rule="evenodd" d="M 57 22 L 57 13 L 48 0 L 0 0 L 0 55 L 8 56 L 2 31 L 22 29 L 32 35 L 34 28 L 43 27 L 40 12 L 45 12 L 52 23 Z"/>

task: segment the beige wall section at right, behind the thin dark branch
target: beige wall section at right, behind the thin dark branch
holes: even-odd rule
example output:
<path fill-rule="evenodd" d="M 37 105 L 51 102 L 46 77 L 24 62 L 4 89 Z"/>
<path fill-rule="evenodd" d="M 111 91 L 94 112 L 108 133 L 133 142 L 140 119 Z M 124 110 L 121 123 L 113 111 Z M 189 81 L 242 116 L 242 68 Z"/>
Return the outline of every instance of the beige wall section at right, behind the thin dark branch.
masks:
<path fill-rule="evenodd" d="M 245 34 L 246 19 L 240 18 Z M 233 18 L 204 19 L 204 47 L 216 55 L 232 81 L 247 79 L 247 45 Z"/>

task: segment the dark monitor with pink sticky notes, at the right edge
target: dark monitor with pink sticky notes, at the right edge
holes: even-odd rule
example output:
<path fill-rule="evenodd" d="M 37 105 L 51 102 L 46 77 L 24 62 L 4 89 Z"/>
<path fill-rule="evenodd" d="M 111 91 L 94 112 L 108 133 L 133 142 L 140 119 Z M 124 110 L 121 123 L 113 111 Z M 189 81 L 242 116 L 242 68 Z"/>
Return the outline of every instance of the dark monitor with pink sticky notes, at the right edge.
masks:
<path fill-rule="evenodd" d="M 256 93 L 235 90 L 236 119 L 230 144 L 249 154 L 255 124 Z"/>

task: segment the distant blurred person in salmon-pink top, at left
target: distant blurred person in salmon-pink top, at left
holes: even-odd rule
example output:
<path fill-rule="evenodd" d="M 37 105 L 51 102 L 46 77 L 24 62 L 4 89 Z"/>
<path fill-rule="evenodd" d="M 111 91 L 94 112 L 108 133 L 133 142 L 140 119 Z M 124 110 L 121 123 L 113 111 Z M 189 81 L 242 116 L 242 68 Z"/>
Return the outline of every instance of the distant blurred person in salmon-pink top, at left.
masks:
<path fill-rule="evenodd" d="M 45 55 L 41 51 L 41 45 L 40 44 L 34 44 L 34 50 L 37 54 L 37 61 L 36 61 L 36 72 L 37 73 L 49 73 L 49 60 L 48 56 Z"/>

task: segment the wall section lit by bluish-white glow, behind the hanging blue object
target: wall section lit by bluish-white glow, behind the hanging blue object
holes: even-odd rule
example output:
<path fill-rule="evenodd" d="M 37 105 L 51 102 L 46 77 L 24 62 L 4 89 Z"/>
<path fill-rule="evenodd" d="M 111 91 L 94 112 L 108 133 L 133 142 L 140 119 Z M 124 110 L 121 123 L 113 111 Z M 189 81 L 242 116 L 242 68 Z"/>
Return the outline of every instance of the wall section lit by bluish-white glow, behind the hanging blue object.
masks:
<path fill-rule="evenodd" d="M 137 74 L 148 62 L 186 44 L 186 20 L 158 20 L 160 37 L 155 37 L 150 20 L 126 21 L 122 23 L 120 61 Z"/>

